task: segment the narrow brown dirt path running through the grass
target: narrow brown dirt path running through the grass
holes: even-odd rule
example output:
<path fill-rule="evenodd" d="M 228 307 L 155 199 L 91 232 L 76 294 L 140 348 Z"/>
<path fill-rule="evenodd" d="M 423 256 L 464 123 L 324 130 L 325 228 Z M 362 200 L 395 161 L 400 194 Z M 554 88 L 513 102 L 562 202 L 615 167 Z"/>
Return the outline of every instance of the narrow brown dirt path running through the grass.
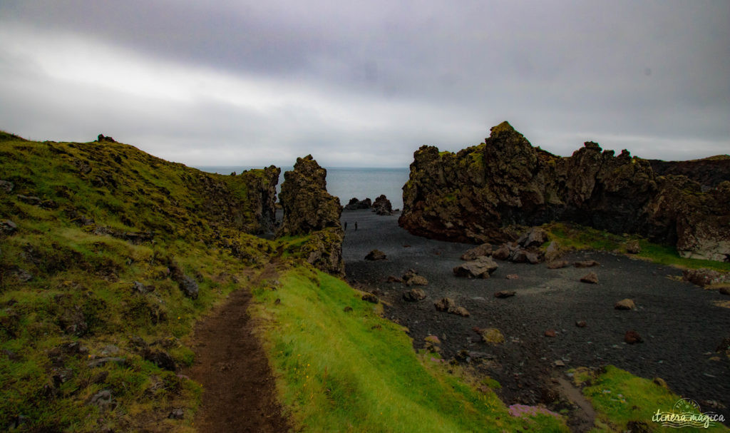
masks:
<path fill-rule="evenodd" d="M 274 378 L 247 314 L 241 288 L 195 328 L 196 360 L 185 374 L 204 387 L 195 424 L 201 433 L 287 432 L 274 397 Z"/>

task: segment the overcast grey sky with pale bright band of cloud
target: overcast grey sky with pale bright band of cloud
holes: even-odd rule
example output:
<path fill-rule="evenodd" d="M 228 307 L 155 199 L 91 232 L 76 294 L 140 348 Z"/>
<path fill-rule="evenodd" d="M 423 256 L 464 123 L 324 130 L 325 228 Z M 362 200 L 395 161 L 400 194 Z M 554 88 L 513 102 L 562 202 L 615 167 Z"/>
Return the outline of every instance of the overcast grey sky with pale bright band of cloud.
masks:
<path fill-rule="evenodd" d="M 508 120 L 730 153 L 730 1 L 0 0 L 0 129 L 192 166 L 407 166 Z"/>

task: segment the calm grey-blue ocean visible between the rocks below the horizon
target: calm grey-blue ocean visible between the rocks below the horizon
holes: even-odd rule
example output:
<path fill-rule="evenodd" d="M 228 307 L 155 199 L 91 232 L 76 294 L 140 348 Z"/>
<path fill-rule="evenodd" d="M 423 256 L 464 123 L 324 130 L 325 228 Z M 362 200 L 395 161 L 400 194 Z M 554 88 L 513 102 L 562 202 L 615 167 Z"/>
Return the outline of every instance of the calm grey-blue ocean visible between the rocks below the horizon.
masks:
<path fill-rule="evenodd" d="M 198 166 L 195 167 L 203 172 L 230 175 L 231 172 L 240 173 L 247 169 L 261 169 L 261 166 Z M 327 169 L 327 191 L 333 196 L 339 197 L 339 202 L 345 206 L 350 199 L 357 197 L 359 200 L 369 198 L 375 200 L 380 194 L 385 194 L 393 204 L 393 209 L 403 208 L 403 185 L 408 181 L 410 170 L 403 169 L 377 169 L 377 168 L 350 168 L 350 167 L 325 167 Z M 284 172 L 293 167 L 281 167 L 277 191 L 281 191 L 281 184 L 284 182 Z"/>

